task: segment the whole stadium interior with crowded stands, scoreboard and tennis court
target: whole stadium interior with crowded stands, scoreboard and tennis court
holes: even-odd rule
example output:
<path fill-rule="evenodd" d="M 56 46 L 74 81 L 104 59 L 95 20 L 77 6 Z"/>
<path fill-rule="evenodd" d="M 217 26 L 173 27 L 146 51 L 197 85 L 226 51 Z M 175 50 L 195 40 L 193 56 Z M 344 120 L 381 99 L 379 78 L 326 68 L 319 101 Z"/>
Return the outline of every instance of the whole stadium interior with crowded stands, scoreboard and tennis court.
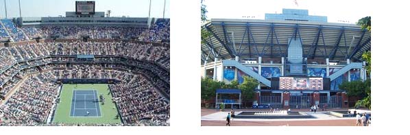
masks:
<path fill-rule="evenodd" d="M 0 19 L 0 125 L 169 125 L 169 18 Z"/>

